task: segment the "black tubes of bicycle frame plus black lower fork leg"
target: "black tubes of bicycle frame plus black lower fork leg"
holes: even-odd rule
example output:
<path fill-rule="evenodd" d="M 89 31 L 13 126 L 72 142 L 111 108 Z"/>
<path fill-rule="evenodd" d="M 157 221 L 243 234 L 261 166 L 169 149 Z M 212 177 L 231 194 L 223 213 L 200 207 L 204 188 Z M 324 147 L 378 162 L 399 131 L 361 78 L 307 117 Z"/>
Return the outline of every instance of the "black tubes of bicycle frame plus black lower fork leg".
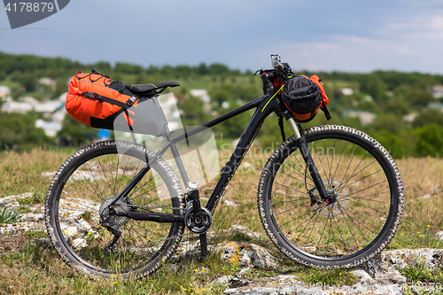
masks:
<path fill-rule="evenodd" d="M 276 107 L 278 104 L 279 101 L 276 98 L 275 91 L 268 92 L 268 94 L 256 98 L 252 102 L 242 105 L 229 113 L 225 113 L 214 120 L 210 120 L 205 124 L 199 126 L 198 128 L 193 128 L 190 131 L 185 132 L 180 136 L 172 136 L 172 132 L 168 132 L 165 136 L 167 139 L 167 144 L 163 145 L 163 147 L 155 154 L 155 156 L 147 161 L 147 164 L 137 173 L 137 175 L 128 183 L 128 185 L 123 190 L 121 190 L 120 194 L 113 200 L 113 202 L 109 206 L 110 207 L 113 206 L 120 198 L 126 198 L 128 196 L 128 193 L 131 190 L 133 190 L 136 187 L 136 184 L 140 182 L 140 180 L 144 177 L 146 173 L 148 173 L 152 163 L 154 163 L 159 157 L 161 157 L 169 148 L 171 149 L 172 154 L 175 158 L 175 163 L 178 167 L 180 175 L 182 176 L 183 182 L 188 189 L 190 184 L 190 179 L 186 174 L 182 159 L 176 147 L 176 143 L 186 139 L 187 137 L 194 136 L 199 132 L 206 130 L 206 128 L 211 128 L 217 124 L 220 124 L 225 120 L 229 120 L 240 113 L 245 113 L 253 108 L 257 108 L 255 110 L 255 113 L 253 113 L 253 117 L 251 118 L 251 120 L 249 120 L 249 123 L 246 126 L 243 135 L 240 137 L 240 140 L 238 141 L 235 151 L 233 152 L 229 161 L 221 169 L 221 177 L 217 182 L 217 184 L 215 185 L 211 197 L 208 199 L 206 203 L 205 206 L 206 209 L 211 213 L 214 213 L 215 207 L 217 206 L 220 198 L 223 196 L 230 179 L 236 173 L 237 168 L 240 166 L 242 160 L 245 158 L 246 152 L 249 151 L 249 148 L 251 147 L 251 144 L 253 143 L 255 136 L 257 136 L 258 132 L 260 131 L 261 125 L 271 113 L 276 111 Z M 326 198 L 326 192 L 322 179 L 320 178 L 320 175 L 318 174 L 317 169 L 312 159 L 310 158 L 310 154 L 307 149 L 307 145 L 304 141 L 303 136 L 299 138 L 298 144 L 300 151 L 302 151 L 302 154 L 306 156 L 306 157 L 304 156 L 304 158 L 307 161 L 308 170 L 310 174 L 313 176 L 315 186 L 319 190 L 319 193 L 322 196 L 322 198 Z M 197 209 L 199 210 L 200 208 L 199 198 L 193 199 L 193 201 L 194 201 L 194 209 L 196 209 L 195 206 L 197 206 L 198 207 Z M 117 214 L 121 216 L 127 216 L 132 219 L 144 220 L 144 221 L 157 221 L 157 222 L 184 221 L 183 215 L 175 215 L 173 213 L 128 212 L 128 213 L 117 213 Z"/>

